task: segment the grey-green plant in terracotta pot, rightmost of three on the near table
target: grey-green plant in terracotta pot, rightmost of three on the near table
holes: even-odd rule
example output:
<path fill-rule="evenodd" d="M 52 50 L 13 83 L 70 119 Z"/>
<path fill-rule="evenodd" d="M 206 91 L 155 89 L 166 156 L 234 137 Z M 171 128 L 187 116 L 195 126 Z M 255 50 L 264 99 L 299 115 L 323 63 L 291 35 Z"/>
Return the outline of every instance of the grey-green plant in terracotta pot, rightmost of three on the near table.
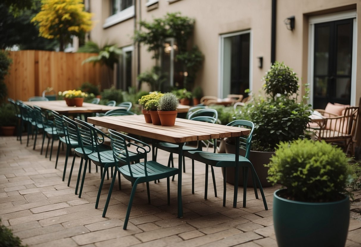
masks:
<path fill-rule="evenodd" d="M 173 93 L 165 93 L 158 103 L 158 114 L 162 126 L 174 126 L 179 105 L 177 96 Z"/>

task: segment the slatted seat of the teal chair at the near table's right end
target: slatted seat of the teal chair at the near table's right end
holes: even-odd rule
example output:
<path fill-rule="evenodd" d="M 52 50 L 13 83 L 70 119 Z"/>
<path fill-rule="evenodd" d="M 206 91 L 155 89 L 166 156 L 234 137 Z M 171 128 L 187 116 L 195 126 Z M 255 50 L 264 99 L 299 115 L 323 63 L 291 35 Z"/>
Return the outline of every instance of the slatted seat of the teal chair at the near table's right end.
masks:
<path fill-rule="evenodd" d="M 193 160 L 200 161 L 207 165 L 212 165 L 216 167 L 235 166 L 234 163 L 235 154 L 231 154 L 231 153 L 210 153 L 204 151 L 188 151 L 184 153 L 184 156 L 191 158 Z M 251 162 L 243 156 L 239 156 L 239 162 L 251 164 Z"/>

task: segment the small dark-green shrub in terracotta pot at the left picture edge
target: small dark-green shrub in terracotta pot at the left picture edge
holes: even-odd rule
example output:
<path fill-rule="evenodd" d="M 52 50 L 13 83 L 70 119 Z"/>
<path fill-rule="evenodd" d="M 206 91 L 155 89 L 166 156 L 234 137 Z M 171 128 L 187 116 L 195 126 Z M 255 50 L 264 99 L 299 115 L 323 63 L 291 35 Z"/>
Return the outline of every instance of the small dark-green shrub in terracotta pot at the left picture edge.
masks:
<path fill-rule="evenodd" d="M 0 107 L 0 127 L 1 133 L 5 136 L 14 135 L 16 122 L 15 109 L 12 104 L 3 104 Z"/>

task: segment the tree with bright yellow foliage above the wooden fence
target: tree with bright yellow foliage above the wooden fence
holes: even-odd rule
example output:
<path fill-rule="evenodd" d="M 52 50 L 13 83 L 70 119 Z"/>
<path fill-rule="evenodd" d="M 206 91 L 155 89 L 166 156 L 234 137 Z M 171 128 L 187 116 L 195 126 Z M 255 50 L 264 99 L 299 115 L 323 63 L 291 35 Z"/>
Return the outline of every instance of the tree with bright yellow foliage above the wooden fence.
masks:
<path fill-rule="evenodd" d="M 31 19 L 39 25 L 39 35 L 56 38 L 60 51 L 70 41 L 70 36 L 83 37 L 92 29 L 92 13 L 84 11 L 84 4 L 79 0 L 42 0 L 42 9 Z"/>

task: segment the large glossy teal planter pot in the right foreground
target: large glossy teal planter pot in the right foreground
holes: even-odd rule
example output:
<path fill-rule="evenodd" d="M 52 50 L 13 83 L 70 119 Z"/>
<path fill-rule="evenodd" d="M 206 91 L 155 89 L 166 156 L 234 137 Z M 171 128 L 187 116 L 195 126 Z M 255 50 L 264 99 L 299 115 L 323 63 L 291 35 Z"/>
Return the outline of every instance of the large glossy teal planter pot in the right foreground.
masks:
<path fill-rule="evenodd" d="M 279 247 L 345 246 L 349 197 L 336 202 L 298 202 L 273 194 L 273 224 Z"/>

